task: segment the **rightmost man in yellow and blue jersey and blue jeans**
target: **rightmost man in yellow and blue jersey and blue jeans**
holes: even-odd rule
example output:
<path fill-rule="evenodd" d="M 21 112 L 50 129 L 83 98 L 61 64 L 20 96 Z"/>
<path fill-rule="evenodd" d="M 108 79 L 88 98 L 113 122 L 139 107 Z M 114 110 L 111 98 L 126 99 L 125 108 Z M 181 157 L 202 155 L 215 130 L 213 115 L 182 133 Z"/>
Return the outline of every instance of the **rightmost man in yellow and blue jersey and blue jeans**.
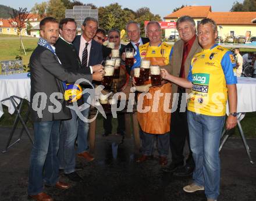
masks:
<path fill-rule="evenodd" d="M 208 201 L 219 196 L 220 161 L 219 141 L 225 121 L 226 101 L 229 116 L 226 129 L 236 126 L 237 79 L 233 73 L 232 52 L 215 44 L 217 26 L 211 19 L 203 19 L 197 26 L 198 42 L 202 51 L 191 60 L 189 76 L 175 77 L 162 70 L 162 78 L 191 88 L 187 120 L 190 148 L 195 161 L 193 183 L 183 188 L 186 192 L 205 191 Z"/>

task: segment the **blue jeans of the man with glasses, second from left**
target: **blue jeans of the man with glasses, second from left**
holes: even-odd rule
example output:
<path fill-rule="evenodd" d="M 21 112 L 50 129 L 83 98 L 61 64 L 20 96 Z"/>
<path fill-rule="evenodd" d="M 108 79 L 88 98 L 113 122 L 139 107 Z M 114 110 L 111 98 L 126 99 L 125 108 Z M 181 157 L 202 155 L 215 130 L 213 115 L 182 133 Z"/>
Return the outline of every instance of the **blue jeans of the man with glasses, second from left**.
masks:
<path fill-rule="evenodd" d="M 65 174 L 73 173 L 76 167 L 76 152 L 74 143 L 77 137 L 78 117 L 74 110 L 70 110 L 72 119 L 61 121 L 61 133 L 59 135 L 59 168 Z"/>

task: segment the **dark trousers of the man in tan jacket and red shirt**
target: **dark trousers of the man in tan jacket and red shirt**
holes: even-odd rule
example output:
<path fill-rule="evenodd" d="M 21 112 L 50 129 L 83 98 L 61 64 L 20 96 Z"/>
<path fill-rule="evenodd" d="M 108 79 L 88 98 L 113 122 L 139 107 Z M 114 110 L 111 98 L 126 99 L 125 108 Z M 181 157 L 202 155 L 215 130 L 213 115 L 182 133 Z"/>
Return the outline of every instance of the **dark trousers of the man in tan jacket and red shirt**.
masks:
<path fill-rule="evenodd" d="M 184 160 L 183 149 L 186 142 L 186 138 L 189 142 L 189 128 L 187 125 L 187 107 L 184 112 L 180 112 L 181 103 L 185 107 L 186 99 L 182 100 L 182 94 L 185 93 L 184 88 L 178 88 L 177 95 L 179 98 L 177 103 L 177 109 L 172 113 L 170 124 L 170 151 L 172 153 L 172 163 L 182 163 Z M 185 98 L 186 96 L 183 96 Z M 185 105 L 184 105 L 185 104 Z M 189 157 L 186 164 L 194 167 L 194 160 L 192 157 L 191 149 L 189 147 Z"/>

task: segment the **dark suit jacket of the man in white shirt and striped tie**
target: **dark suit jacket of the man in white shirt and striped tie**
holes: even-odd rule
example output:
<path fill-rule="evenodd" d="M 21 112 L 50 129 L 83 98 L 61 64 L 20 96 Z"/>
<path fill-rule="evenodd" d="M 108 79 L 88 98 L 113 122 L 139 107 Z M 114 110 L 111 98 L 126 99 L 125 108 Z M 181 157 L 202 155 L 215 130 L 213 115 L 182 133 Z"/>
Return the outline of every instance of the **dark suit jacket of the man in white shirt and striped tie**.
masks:
<path fill-rule="evenodd" d="M 80 49 L 80 39 L 81 39 L 81 35 L 77 35 L 77 37 L 74 39 L 74 42 L 73 42 L 74 48 L 76 48 L 76 51 L 78 54 L 79 54 L 79 49 Z M 102 60 L 103 60 L 103 56 L 102 56 L 101 44 L 92 40 L 90 56 L 89 56 L 87 65 L 94 66 L 97 64 L 101 64 Z"/>

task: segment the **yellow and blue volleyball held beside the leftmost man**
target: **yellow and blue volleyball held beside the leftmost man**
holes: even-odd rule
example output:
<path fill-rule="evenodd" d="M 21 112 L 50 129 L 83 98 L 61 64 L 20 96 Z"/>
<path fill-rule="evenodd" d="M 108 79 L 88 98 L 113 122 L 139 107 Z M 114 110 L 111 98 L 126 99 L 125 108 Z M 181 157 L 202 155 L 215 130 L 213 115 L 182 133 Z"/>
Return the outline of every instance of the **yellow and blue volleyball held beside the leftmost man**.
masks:
<path fill-rule="evenodd" d="M 76 102 L 82 96 L 82 88 L 77 84 L 66 84 L 64 99 L 69 103 Z"/>

